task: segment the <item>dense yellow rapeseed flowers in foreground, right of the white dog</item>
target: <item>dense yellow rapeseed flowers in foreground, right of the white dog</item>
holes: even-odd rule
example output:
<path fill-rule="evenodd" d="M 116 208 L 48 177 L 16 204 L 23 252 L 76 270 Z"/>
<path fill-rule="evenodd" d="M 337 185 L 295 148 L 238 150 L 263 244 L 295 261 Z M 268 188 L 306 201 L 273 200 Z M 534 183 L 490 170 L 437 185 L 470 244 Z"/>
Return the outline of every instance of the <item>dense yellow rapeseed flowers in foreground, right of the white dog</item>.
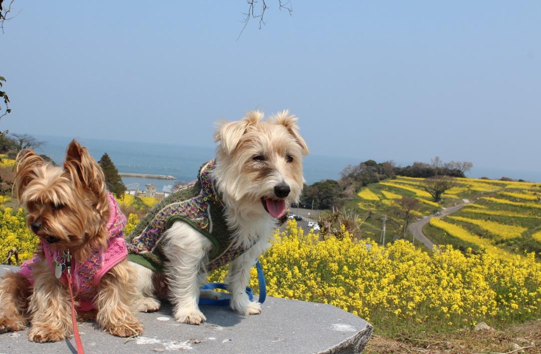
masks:
<path fill-rule="evenodd" d="M 384 332 L 453 329 L 540 314 L 541 265 L 533 255 L 503 261 L 490 252 L 443 246 L 429 256 L 407 241 L 384 247 L 356 241 L 344 228 L 341 233 L 340 239 L 320 241 L 289 222 L 261 257 L 268 294 L 329 303 Z M 226 269 L 219 269 L 209 281 L 225 276 Z M 250 286 L 258 288 L 255 270 Z"/>

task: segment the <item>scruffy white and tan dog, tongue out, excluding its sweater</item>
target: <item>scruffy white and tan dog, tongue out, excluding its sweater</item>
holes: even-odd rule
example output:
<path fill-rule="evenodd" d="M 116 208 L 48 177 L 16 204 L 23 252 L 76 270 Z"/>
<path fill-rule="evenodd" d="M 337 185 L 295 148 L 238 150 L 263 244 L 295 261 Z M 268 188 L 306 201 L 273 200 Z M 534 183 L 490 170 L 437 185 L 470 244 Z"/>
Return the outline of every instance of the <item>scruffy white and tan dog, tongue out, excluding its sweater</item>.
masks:
<path fill-rule="evenodd" d="M 296 118 L 288 111 L 262 121 L 259 111 L 249 112 L 240 121 L 222 122 L 216 133 L 215 167 L 210 174 L 223 203 L 223 215 L 236 246 L 249 249 L 229 263 L 230 307 L 243 315 L 261 313 L 261 305 L 250 301 L 245 292 L 250 268 L 269 247 L 276 218 L 286 212 L 286 204 L 298 202 L 304 183 L 302 157 L 308 154 L 300 137 Z M 199 287 L 206 281 L 209 239 L 184 222 L 175 222 L 163 233 L 163 254 L 167 258 L 163 274 L 131 263 L 138 273 L 142 311 L 159 308 L 155 289 L 157 277 L 168 285 L 177 322 L 200 324 L 206 318 L 199 310 Z M 156 291 L 158 290 L 158 291 Z M 201 291 L 214 297 L 213 291 Z"/>

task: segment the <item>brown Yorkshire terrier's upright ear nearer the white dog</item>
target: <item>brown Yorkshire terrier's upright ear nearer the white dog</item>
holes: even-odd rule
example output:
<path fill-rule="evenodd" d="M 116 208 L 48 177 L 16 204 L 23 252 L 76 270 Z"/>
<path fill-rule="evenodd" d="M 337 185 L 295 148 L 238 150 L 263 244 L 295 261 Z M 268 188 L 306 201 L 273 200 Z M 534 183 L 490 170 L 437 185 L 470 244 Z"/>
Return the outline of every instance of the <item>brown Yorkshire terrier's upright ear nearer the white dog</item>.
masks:
<path fill-rule="evenodd" d="M 90 156 L 87 148 L 79 145 L 75 139 L 68 145 L 64 171 L 78 188 L 90 190 L 107 198 L 105 177 L 100 165 Z"/>

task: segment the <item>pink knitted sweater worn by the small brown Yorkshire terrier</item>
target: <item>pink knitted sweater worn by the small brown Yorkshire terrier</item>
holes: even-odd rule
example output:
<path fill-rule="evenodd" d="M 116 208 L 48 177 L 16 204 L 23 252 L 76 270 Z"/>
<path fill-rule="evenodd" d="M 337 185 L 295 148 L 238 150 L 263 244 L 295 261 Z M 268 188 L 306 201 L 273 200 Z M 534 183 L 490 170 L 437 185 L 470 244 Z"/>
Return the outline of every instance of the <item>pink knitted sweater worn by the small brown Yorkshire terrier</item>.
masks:
<path fill-rule="evenodd" d="M 126 226 L 126 216 L 122 214 L 118 203 L 111 193 L 108 192 L 109 199 L 109 221 L 107 230 L 109 231 L 109 242 L 107 249 L 92 250 L 90 256 L 85 260 L 71 259 L 71 287 L 74 291 L 75 300 L 79 302 L 77 310 L 89 311 L 95 309 L 94 299 L 97 295 L 97 288 L 101 278 L 107 271 L 128 256 L 126 242 L 124 242 L 123 229 Z M 61 250 L 51 247 L 47 242 L 41 240 L 41 247 L 47 258 L 47 263 L 52 273 L 55 273 L 53 262 L 58 256 L 62 257 Z M 19 272 L 28 278 L 30 284 L 32 280 L 32 265 L 40 261 L 41 256 L 35 255 L 31 260 L 25 261 Z M 67 282 L 67 276 L 64 271 L 60 279 Z"/>

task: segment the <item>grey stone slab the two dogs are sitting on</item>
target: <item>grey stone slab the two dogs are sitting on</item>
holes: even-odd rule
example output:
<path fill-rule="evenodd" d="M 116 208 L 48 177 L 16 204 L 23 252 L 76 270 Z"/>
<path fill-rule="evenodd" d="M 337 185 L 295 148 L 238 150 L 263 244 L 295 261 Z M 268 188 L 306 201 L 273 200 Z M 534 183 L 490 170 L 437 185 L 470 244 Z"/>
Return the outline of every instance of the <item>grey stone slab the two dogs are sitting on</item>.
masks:
<path fill-rule="evenodd" d="M 15 267 L 0 266 L 0 273 Z M 241 316 L 227 307 L 201 307 L 207 322 L 176 323 L 171 306 L 138 314 L 141 337 L 118 338 L 102 332 L 96 323 L 79 323 L 85 352 L 96 353 L 354 353 L 372 333 L 364 319 L 334 306 L 267 297 L 261 315 Z M 126 342 L 126 343 L 125 343 Z M 73 338 L 57 343 L 32 343 L 28 329 L 0 334 L 2 353 L 76 352 Z"/>

